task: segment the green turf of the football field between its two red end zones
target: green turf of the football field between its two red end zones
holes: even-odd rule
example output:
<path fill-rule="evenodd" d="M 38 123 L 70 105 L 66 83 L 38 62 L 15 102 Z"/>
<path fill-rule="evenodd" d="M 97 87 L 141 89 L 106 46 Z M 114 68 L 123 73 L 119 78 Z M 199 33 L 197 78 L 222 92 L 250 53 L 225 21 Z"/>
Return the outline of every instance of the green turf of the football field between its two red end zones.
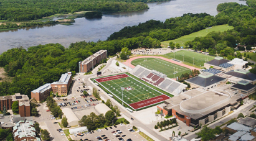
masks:
<path fill-rule="evenodd" d="M 105 88 L 108 89 L 108 91 L 111 91 L 111 93 L 115 94 L 115 96 L 120 99 L 122 99 L 121 87 L 132 88 L 129 91 L 123 90 L 123 101 L 125 101 L 126 104 L 143 101 L 163 94 L 131 77 L 103 81 L 100 84 L 102 84 Z"/>

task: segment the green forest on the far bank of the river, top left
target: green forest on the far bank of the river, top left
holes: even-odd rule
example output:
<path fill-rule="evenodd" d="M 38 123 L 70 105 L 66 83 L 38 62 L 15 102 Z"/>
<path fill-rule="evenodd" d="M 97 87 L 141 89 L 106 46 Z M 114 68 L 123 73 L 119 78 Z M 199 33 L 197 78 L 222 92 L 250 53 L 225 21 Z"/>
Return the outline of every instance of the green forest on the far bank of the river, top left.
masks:
<path fill-rule="evenodd" d="M 79 11 L 141 11 L 149 9 L 145 2 L 156 1 L 169 0 L 0 0 L 0 20 L 37 20 Z"/>

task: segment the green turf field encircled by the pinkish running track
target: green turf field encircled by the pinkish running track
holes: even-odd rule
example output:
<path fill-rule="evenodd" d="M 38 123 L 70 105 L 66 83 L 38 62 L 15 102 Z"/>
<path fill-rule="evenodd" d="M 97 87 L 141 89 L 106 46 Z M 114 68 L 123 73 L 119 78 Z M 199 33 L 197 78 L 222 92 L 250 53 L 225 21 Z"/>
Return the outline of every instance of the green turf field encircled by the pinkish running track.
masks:
<path fill-rule="evenodd" d="M 188 73 L 191 71 L 189 68 L 170 63 L 169 61 L 164 61 L 159 58 L 139 58 L 131 61 L 132 65 L 141 65 L 149 70 L 156 70 L 164 75 L 167 75 L 168 78 L 174 78 L 176 76 L 181 76 L 183 73 Z M 174 70 L 175 68 L 175 70 Z M 174 71 L 178 71 L 174 74 Z"/>

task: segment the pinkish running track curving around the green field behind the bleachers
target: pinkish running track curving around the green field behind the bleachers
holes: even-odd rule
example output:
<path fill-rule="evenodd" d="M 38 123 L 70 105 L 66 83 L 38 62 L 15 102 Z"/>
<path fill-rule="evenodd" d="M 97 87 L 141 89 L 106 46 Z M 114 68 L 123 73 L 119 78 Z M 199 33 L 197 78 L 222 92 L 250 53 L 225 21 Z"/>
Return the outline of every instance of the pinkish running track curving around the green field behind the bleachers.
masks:
<path fill-rule="evenodd" d="M 133 57 L 133 58 L 130 58 L 128 60 L 126 60 L 123 64 L 125 64 L 126 66 L 130 66 L 131 68 L 135 68 L 135 66 L 131 65 L 131 61 L 133 60 L 136 60 L 138 58 L 159 58 L 159 59 L 162 59 L 162 60 L 165 60 L 165 61 L 169 61 L 171 63 L 174 63 L 176 65 L 179 65 L 179 66 L 184 66 L 186 68 L 189 68 L 190 70 L 200 70 L 199 68 L 195 68 L 193 66 L 189 66 L 189 65 L 186 65 L 184 63 L 179 63 L 178 61 L 173 61 L 173 60 L 170 60 L 168 58 L 164 58 L 164 57 L 155 57 L 155 56 L 140 56 L 140 57 Z"/>

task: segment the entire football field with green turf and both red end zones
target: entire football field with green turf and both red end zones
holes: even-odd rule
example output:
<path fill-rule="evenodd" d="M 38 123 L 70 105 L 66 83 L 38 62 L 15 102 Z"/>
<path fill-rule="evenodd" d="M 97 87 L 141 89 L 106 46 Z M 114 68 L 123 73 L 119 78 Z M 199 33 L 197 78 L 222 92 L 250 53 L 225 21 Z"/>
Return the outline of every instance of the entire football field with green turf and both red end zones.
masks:
<path fill-rule="evenodd" d="M 124 104 L 135 110 L 170 98 L 126 74 L 97 78 L 95 81 L 118 98 L 119 102 L 122 101 L 123 93 Z M 121 88 L 124 89 L 123 92 Z"/>

